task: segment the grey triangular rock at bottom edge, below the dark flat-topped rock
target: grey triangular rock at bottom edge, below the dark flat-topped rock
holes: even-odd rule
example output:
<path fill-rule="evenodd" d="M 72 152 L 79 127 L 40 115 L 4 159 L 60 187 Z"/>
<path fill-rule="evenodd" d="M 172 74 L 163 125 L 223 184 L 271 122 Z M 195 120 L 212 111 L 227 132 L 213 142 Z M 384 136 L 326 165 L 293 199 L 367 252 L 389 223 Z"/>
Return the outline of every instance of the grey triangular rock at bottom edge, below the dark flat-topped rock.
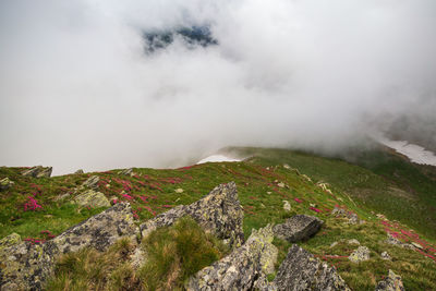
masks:
<path fill-rule="evenodd" d="M 293 244 L 280 265 L 277 290 L 350 290 L 336 269 Z"/>

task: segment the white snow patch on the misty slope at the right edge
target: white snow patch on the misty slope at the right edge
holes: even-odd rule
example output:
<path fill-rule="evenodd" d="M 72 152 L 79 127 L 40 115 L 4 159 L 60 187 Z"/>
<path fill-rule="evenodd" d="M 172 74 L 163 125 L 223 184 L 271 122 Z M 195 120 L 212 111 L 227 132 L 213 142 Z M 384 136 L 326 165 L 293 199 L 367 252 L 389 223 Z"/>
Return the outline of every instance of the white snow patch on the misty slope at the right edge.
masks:
<path fill-rule="evenodd" d="M 426 150 L 422 146 L 410 144 L 405 141 L 390 141 L 387 138 L 382 138 L 379 140 L 379 142 L 407 156 L 413 162 L 436 166 L 435 154 L 433 151 Z"/>

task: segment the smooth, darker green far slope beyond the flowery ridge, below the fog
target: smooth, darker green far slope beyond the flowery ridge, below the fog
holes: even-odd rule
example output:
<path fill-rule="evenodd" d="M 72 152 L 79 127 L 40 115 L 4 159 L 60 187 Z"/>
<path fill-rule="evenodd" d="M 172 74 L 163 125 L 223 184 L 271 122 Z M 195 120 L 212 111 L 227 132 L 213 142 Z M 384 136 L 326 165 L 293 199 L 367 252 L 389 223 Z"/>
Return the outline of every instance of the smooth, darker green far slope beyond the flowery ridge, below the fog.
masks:
<path fill-rule="evenodd" d="M 360 205 L 383 213 L 436 239 L 436 179 L 433 167 L 413 165 L 387 150 L 352 153 L 354 165 L 287 149 L 233 148 L 259 157 L 261 165 L 289 163 L 316 181 L 349 194 Z M 358 166 L 359 165 L 359 166 Z"/>

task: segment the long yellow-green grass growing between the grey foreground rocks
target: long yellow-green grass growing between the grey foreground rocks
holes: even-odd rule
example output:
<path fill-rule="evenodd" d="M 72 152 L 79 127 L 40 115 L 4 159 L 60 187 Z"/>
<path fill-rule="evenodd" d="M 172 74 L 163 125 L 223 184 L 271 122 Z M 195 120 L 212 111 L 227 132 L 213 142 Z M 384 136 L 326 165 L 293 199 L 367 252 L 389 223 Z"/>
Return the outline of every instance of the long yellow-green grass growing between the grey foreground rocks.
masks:
<path fill-rule="evenodd" d="M 63 255 L 47 290 L 182 290 L 184 281 L 229 250 L 192 218 L 152 232 L 141 244 L 145 264 L 129 262 L 134 244 L 122 239 L 107 252 L 83 248 Z"/>

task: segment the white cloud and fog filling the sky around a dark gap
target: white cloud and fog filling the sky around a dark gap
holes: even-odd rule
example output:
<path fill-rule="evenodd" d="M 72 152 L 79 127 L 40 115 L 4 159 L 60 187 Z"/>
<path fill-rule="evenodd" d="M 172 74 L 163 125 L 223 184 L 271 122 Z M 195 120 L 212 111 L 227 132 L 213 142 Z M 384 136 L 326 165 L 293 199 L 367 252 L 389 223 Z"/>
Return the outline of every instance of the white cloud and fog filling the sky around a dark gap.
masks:
<path fill-rule="evenodd" d="M 193 25 L 218 45 L 144 52 L 144 32 Z M 0 165 L 331 154 L 404 116 L 434 133 L 435 27 L 434 0 L 2 0 Z"/>

